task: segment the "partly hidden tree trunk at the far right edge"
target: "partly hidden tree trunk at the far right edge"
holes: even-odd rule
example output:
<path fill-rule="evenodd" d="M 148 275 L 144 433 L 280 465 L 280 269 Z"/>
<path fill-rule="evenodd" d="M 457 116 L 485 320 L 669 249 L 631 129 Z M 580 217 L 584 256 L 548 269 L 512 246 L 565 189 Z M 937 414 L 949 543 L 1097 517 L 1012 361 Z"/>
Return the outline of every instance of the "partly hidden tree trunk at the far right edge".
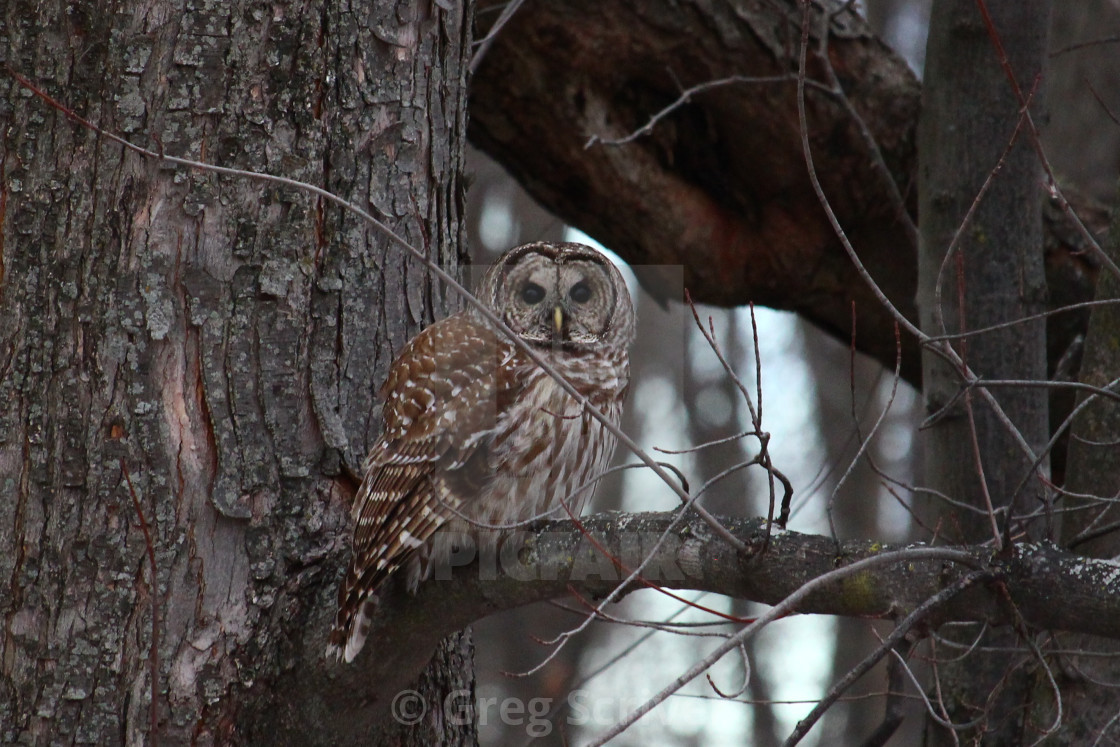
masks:
<path fill-rule="evenodd" d="M 1052 109 L 1062 112 L 1047 122 L 1045 140 L 1051 162 L 1067 179 L 1100 199 L 1111 199 L 1112 227 L 1108 249 L 1113 261 L 1120 259 L 1120 211 L 1117 209 L 1117 165 L 1120 164 L 1120 128 L 1113 121 L 1120 103 L 1120 62 L 1116 43 L 1085 44 L 1114 38 L 1120 31 L 1120 8 L 1114 3 L 1063 3 L 1054 9 L 1051 47 Z M 1096 299 L 1120 299 L 1120 280 L 1104 272 L 1096 286 Z M 1108 386 L 1120 374 L 1120 311 L 1116 306 L 1099 306 L 1092 311 L 1084 339 L 1081 382 Z M 1114 390 L 1113 390 L 1114 391 Z M 1073 400 L 1073 395 L 1068 395 Z M 1077 398 L 1085 404 L 1073 423 L 1068 478 L 1064 487 L 1071 495 L 1064 505 L 1076 508 L 1062 523 L 1063 544 L 1094 558 L 1120 555 L 1120 532 L 1114 498 L 1120 495 L 1120 475 L 1116 469 L 1116 442 L 1120 436 L 1120 408 L 1107 399 Z M 1054 413 L 1051 413 L 1052 421 Z M 1100 496 L 1100 501 L 1077 496 Z M 1054 674 L 1062 690 L 1065 718 L 1047 744 L 1082 745 L 1098 736 L 1116 739 L 1113 717 L 1120 711 L 1120 695 L 1100 682 L 1120 680 L 1116 642 L 1093 636 L 1061 639 L 1066 651 L 1086 655 L 1065 656 L 1056 662 Z M 1051 723 L 1056 713 L 1044 673 L 1036 675 L 1036 723 Z M 1111 726 L 1109 726 L 1111 725 Z"/>

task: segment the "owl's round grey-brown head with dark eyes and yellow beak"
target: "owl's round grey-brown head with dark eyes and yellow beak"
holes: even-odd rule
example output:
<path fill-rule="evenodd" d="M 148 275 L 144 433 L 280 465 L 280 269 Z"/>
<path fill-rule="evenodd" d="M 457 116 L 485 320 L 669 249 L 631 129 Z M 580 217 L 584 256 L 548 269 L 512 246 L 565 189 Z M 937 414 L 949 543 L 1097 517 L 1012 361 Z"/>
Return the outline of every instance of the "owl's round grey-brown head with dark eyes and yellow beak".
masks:
<path fill-rule="evenodd" d="M 530 345 L 627 347 L 634 306 L 618 269 L 585 244 L 536 242 L 487 270 L 478 298 Z"/>

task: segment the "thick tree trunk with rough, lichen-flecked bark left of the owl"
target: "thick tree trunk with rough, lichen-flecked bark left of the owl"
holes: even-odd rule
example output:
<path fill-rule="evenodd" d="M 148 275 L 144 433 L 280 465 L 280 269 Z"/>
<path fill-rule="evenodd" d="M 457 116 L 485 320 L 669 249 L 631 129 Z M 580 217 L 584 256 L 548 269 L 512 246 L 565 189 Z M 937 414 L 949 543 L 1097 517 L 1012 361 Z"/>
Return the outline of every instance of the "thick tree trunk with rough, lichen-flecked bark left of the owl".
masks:
<path fill-rule="evenodd" d="M 323 186 L 454 268 L 465 4 L 12 0 L 0 37 L 102 127 Z M 325 635 L 376 386 L 456 299 L 335 205 L 0 87 L 0 740 L 395 727 Z M 429 702 L 469 689 L 469 648 L 437 655 Z M 385 738 L 470 740 L 440 716 Z"/>

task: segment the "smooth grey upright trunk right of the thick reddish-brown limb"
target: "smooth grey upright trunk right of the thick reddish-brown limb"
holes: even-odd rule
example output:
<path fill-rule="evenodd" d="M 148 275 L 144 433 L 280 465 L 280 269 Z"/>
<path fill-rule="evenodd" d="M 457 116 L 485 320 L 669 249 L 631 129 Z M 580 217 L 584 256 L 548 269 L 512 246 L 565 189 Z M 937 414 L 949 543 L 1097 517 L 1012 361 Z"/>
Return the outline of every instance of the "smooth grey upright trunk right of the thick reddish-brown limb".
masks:
<path fill-rule="evenodd" d="M 1049 3 L 988 3 L 988 10 L 1010 69 L 1028 96 L 1046 52 Z M 978 6 L 971 0 L 935 2 L 918 128 L 918 306 L 930 335 L 974 330 L 1045 309 L 1040 166 L 1026 123 L 1008 149 L 1019 111 L 1019 99 Z M 987 193 L 978 197 L 989 176 Z M 965 222 L 973 200 L 979 205 Z M 1045 325 L 1037 320 L 955 340 L 954 347 L 983 379 L 1044 381 L 1045 339 Z M 926 431 L 925 485 L 977 508 L 941 508 L 942 534 L 951 541 L 991 540 L 997 530 L 987 511 L 990 498 L 1000 511 L 995 523 L 1005 536 L 1024 529 L 1042 536 L 1040 522 L 1024 526 L 1015 517 L 1042 507 L 1045 484 L 1032 474 L 1032 459 L 993 408 L 977 392 L 960 395 L 961 382 L 960 371 L 924 353 L 926 410 L 935 418 Z M 1001 387 L 992 393 L 1023 439 L 1040 454 L 1047 440 L 1046 391 Z M 971 643 L 974 636 L 970 629 L 961 639 Z M 997 647 L 1017 643 L 1016 633 L 1006 629 L 981 641 Z M 945 656 L 954 659 L 958 653 L 949 651 Z M 1018 660 L 1018 654 L 978 651 L 963 662 L 941 666 L 941 697 L 950 720 L 964 723 L 991 716 L 962 739 L 986 734 L 991 744 L 1019 744 L 1024 723 L 1017 706 L 1027 678 L 1021 671 L 1008 671 Z M 950 744 L 951 738 L 931 721 L 930 741 Z"/>

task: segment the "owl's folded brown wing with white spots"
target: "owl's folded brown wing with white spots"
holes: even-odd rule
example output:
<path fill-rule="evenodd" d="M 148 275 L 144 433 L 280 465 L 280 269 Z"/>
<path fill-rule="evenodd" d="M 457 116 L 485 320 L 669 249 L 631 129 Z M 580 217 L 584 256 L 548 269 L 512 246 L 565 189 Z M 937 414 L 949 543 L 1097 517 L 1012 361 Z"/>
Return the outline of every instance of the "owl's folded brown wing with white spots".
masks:
<path fill-rule="evenodd" d="M 440 474 L 461 470 L 488 448 L 501 402 L 517 387 L 512 349 L 465 314 L 417 335 L 381 389 L 383 433 L 354 499 L 354 554 L 339 589 L 328 655 L 362 650 L 377 588 L 460 510 Z"/>

